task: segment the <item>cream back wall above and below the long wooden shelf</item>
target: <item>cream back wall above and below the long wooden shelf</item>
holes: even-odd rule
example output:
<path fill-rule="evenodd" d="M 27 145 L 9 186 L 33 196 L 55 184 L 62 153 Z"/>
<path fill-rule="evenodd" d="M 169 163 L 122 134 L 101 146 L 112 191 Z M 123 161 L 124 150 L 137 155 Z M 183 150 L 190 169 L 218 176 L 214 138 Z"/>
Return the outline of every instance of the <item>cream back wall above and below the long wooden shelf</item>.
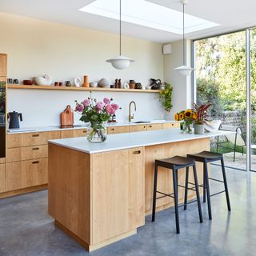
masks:
<path fill-rule="evenodd" d="M 114 78 L 134 79 L 149 84 L 150 78 L 163 79 L 162 45 L 135 38 L 122 38 L 124 55 L 135 62 L 126 70 L 114 70 L 107 58 L 118 54 L 118 35 L 65 26 L 12 14 L 0 13 L 0 52 L 8 54 L 8 78 L 21 80 L 50 74 L 54 81 L 89 75 L 89 81 Z M 164 111 L 157 94 L 95 93 L 96 98 L 112 96 L 122 106 L 119 121 L 125 121 L 128 105 L 135 100 L 137 119 L 162 119 Z M 88 96 L 84 92 L 9 90 L 8 110 L 24 115 L 23 127 L 58 125 L 59 113 L 74 99 Z M 78 122 L 76 116 L 75 122 Z"/>

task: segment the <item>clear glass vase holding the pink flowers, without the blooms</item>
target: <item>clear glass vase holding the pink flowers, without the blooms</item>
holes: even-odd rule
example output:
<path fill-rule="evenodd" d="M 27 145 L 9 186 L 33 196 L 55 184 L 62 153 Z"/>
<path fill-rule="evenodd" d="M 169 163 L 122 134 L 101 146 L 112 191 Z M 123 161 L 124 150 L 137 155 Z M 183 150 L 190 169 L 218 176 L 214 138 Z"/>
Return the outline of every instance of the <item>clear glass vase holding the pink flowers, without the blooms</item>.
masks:
<path fill-rule="evenodd" d="M 105 142 L 107 138 L 105 122 L 91 122 L 87 134 L 89 142 Z"/>

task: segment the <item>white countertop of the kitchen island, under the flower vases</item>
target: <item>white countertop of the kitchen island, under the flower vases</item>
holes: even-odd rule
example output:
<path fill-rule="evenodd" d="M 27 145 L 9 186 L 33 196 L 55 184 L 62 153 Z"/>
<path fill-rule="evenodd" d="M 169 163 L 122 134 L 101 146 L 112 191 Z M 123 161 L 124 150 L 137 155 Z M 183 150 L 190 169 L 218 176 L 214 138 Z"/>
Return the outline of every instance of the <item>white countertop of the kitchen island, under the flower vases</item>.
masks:
<path fill-rule="evenodd" d="M 218 130 L 205 134 L 183 134 L 179 129 L 152 130 L 127 134 L 110 134 L 106 142 L 91 143 L 86 137 L 64 138 L 50 140 L 49 143 L 64 146 L 71 150 L 82 151 L 87 154 L 101 153 L 113 150 L 124 150 L 138 146 L 153 146 L 170 142 L 182 142 L 198 138 L 211 138 L 219 135 L 234 134 L 234 132 Z"/>

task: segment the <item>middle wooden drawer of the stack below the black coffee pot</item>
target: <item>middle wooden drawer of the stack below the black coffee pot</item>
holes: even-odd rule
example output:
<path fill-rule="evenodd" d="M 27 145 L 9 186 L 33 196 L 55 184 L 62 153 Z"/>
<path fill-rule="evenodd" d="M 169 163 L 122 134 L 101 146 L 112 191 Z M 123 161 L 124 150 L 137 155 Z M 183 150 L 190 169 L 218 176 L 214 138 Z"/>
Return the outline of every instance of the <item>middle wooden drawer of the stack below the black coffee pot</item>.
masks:
<path fill-rule="evenodd" d="M 7 162 L 17 162 L 23 160 L 31 160 L 36 158 L 48 157 L 48 146 L 22 146 L 7 149 Z"/>

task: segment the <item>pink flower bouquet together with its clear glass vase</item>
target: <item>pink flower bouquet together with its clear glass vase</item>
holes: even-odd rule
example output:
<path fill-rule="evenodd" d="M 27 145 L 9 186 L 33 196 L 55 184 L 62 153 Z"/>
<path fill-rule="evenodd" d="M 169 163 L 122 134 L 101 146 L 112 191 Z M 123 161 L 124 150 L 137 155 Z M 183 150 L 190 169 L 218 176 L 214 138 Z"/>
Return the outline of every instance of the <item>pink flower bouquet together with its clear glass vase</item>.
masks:
<path fill-rule="evenodd" d="M 106 122 L 119 109 L 118 104 L 113 103 L 112 98 L 103 98 L 98 102 L 96 98 L 86 98 L 83 102 L 76 102 L 75 111 L 81 114 L 82 122 L 90 122 L 87 131 L 89 142 L 105 142 L 107 138 Z"/>

